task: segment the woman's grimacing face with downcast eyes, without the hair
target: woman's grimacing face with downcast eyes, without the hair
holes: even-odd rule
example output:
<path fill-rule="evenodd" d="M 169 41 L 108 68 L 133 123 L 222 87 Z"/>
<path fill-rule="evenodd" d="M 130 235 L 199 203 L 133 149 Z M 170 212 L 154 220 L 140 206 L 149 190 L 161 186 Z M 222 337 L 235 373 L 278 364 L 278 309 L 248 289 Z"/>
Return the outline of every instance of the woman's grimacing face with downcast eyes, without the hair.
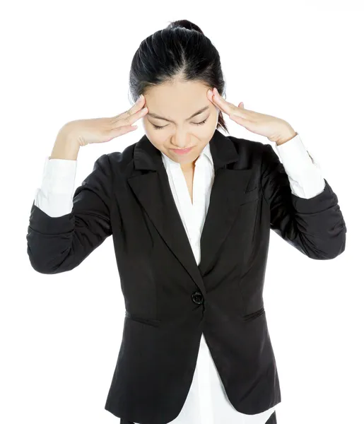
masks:
<path fill-rule="evenodd" d="M 180 163 L 182 169 L 193 167 L 216 131 L 218 107 L 207 97 L 209 88 L 212 89 L 201 82 L 175 80 L 143 93 L 148 107 L 142 118 L 146 136 L 155 148 Z M 191 150 L 185 154 L 174 150 L 183 148 Z"/>

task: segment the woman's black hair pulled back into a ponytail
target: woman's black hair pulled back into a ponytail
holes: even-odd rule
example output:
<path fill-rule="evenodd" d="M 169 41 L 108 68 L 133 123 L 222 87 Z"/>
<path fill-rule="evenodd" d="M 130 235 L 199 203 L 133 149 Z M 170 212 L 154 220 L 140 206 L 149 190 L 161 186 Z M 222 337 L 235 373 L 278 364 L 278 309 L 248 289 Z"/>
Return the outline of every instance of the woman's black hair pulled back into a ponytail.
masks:
<path fill-rule="evenodd" d="M 224 96 L 220 55 L 211 40 L 189 20 L 175 20 L 141 42 L 131 61 L 129 88 L 133 102 L 149 87 L 172 81 L 202 81 Z M 228 128 L 221 110 L 218 127 Z"/>

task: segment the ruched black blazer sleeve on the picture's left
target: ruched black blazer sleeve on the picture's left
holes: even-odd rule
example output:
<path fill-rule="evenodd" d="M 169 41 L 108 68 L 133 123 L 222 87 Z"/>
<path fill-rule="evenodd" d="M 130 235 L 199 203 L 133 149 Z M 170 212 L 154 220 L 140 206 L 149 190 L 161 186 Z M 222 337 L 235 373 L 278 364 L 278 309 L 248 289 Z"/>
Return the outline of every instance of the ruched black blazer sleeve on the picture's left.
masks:
<path fill-rule="evenodd" d="M 70 213 L 51 217 L 33 201 L 26 235 L 33 269 L 47 274 L 70 271 L 112 235 L 111 193 L 110 160 L 104 154 L 76 188 Z"/>

